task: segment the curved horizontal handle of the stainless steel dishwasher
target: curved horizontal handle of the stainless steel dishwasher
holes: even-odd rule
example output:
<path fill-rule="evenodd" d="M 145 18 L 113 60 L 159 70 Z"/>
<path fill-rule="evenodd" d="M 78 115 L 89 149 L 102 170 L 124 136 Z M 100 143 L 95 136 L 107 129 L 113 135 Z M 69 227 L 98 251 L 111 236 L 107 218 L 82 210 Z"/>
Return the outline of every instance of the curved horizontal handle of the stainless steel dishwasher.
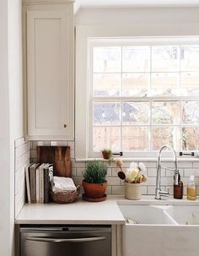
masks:
<path fill-rule="evenodd" d="M 25 237 L 25 240 L 35 242 L 94 242 L 105 240 L 105 237 L 83 237 L 83 238 L 48 238 L 48 237 Z"/>

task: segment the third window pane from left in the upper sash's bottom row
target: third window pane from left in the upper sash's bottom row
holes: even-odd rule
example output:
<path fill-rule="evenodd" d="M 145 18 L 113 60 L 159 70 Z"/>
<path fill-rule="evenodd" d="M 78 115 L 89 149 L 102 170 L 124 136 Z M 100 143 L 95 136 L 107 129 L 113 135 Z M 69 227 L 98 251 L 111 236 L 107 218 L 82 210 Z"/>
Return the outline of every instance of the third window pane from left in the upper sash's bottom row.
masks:
<path fill-rule="evenodd" d="M 152 95 L 176 95 L 178 73 L 153 73 L 151 75 Z"/>

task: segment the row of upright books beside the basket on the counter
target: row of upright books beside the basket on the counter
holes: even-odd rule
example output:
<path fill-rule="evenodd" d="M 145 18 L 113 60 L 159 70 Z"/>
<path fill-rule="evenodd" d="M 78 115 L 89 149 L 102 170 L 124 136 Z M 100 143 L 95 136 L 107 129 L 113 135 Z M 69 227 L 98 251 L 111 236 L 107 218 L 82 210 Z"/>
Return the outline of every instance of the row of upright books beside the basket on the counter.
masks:
<path fill-rule="evenodd" d="M 53 164 L 32 163 L 25 168 L 28 203 L 49 203 L 50 182 L 53 177 Z"/>

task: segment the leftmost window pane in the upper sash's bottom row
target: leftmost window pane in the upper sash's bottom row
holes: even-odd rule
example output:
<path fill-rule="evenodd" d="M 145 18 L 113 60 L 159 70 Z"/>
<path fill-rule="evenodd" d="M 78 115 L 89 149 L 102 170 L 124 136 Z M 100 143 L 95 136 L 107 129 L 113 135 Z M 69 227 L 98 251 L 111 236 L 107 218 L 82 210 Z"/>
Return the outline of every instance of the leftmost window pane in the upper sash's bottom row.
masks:
<path fill-rule="evenodd" d="M 121 74 L 94 74 L 94 95 L 120 95 Z"/>

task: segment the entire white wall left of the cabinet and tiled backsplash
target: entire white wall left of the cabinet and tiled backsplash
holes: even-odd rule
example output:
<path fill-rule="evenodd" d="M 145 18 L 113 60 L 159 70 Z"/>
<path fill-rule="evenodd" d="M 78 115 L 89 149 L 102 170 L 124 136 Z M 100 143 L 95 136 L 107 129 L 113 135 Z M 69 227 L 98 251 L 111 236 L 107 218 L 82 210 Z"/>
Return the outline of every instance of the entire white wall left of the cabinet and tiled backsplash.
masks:
<path fill-rule="evenodd" d="M 21 0 L 0 1 L 0 255 L 13 253 L 14 139 L 23 136 Z"/>

